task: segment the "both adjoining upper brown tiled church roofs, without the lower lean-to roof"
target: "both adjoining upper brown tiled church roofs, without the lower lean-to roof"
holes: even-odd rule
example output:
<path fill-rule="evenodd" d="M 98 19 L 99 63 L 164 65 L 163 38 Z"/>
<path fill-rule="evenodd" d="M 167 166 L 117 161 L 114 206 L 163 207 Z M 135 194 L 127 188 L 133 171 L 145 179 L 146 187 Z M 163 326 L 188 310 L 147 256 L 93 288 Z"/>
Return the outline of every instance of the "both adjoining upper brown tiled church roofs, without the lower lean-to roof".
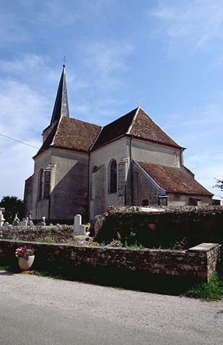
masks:
<path fill-rule="evenodd" d="M 38 154 L 47 150 L 50 145 L 87 152 L 92 143 L 94 143 L 92 146 L 92 150 L 94 150 L 127 135 L 152 143 L 182 148 L 156 125 L 140 107 L 104 127 L 67 116 L 63 116 L 59 124 L 55 123 L 54 126 L 40 147 Z"/>

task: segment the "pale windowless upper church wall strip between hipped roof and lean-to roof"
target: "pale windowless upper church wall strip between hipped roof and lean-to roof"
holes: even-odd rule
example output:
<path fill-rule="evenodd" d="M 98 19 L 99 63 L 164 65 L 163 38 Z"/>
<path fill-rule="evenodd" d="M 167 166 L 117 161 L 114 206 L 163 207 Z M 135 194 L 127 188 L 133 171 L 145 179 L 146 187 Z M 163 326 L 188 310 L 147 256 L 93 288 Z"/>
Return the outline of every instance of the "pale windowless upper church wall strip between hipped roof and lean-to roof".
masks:
<path fill-rule="evenodd" d="M 147 143 L 133 139 L 131 141 L 132 157 L 135 161 L 147 161 L 148 163 L 167 164 L 169 166 L 181 166 L 183 164 L 183 154 L 181 150 Z"/>

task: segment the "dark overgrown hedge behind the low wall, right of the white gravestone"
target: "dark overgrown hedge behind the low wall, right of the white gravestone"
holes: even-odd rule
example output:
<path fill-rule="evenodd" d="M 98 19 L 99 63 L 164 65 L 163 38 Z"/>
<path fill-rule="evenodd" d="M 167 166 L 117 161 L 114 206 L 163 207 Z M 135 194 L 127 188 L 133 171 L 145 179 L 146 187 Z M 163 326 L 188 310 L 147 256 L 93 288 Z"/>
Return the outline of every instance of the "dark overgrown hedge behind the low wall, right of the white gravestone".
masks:
<path fill-rule="evenodd" d="M 162 214 L 126 212 L 106 215 L 94 241 L 124 246 L 185 250 L 200 243 L 222 243 L 223 207 L 183 207 Z"/>

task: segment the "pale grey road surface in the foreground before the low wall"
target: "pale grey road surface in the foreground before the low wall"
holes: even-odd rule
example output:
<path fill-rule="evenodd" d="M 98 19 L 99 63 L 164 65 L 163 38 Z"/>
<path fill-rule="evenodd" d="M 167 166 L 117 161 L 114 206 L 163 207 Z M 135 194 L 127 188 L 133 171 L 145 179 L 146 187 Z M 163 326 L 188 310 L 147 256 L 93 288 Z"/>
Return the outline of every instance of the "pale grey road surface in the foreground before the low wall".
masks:
<path fill-rule="evenodd" d="M 1 345 L 220 345 L 223 303 L 0 271 Z"/>

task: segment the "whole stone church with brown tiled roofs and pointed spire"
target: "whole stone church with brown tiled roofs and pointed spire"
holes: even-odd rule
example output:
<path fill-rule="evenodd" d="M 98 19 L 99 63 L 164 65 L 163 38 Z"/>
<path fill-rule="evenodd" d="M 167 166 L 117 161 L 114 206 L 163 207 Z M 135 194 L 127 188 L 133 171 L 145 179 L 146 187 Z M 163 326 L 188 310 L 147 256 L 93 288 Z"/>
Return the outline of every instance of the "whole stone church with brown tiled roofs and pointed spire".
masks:
<path fill-rule="evenodd" d="M 109 206 L 210 205 L 213 194 L 183 166 L 183 147 L 140 106 L 101 127 L 69 117 L 65 65 L 49 126 L 26 179 L 24 216 L 69 223 Z"/>

